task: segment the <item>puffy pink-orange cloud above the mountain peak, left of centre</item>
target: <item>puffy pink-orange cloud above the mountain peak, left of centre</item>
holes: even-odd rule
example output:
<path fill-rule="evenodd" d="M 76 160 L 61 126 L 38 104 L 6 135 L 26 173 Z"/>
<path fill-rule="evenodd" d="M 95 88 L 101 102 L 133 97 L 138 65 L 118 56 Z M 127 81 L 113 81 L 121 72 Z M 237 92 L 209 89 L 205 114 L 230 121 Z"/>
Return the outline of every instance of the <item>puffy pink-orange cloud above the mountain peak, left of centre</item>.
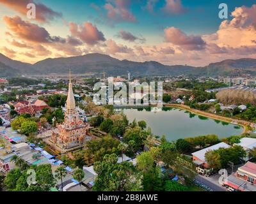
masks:
<path fill-rule="evenodd" d="M 72 36 L 79 38 L 88 45 L 95 45 L 99 43 L 99 41 L 106 41 L 104 34 L 90 22 L 85 22 L 83 25 L 70 22 L 69 29 Z"/>

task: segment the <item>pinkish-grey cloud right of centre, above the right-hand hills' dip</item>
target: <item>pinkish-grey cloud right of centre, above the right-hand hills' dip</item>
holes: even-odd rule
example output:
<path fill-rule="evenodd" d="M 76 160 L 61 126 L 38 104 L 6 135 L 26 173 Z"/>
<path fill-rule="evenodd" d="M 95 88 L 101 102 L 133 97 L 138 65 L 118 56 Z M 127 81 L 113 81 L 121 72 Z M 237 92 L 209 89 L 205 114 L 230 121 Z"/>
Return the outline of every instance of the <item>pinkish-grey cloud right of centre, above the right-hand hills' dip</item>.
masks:
<path fill-rule="evenodd" d="M 202 50 L 205 48 L 205 41 L 201 36 L 188 36 L 175 27 L 164 29 L 164 38 L 168 43 L 177 45 L 184 50 Z"/>

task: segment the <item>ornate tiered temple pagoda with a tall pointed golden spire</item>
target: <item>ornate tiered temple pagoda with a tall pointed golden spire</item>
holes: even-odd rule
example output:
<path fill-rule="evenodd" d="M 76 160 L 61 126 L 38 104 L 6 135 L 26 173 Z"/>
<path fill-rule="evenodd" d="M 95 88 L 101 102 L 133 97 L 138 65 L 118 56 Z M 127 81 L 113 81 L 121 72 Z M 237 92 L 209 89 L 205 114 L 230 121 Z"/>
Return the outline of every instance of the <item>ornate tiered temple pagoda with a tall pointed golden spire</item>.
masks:
<path fill-rule="evenodd" d="M 68 98 L 66 103 L 65 121 L 58 124 L 52 131 L 51 143 L 61 150 L 72 150 L 83 146 L 84 139 L 88 134 L 89 124 L 84 124 L 76 110 L 76 101 L 72 89 L 71 75 L 68 84 Z"/>

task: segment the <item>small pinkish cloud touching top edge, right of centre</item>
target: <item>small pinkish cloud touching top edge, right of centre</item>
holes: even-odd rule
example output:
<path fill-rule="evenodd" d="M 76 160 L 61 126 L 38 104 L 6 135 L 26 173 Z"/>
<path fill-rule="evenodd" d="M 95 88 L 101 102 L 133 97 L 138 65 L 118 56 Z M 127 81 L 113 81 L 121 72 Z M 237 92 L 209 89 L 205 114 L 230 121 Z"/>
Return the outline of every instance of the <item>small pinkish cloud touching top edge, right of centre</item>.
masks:
<path fill-rule="evenodd" d="M 163 8 L 163 11 L 168 14 L 177 15 L 185 13 L 187 11 L 180 0 L 165 0 L 166 4 Z"/>

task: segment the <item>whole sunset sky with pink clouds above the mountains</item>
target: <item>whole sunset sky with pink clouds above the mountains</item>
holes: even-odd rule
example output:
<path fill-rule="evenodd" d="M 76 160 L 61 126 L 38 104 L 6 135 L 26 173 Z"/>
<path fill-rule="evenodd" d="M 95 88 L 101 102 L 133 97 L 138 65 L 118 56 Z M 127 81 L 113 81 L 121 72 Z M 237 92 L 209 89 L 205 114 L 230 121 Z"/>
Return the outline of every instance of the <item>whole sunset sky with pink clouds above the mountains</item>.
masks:
<path fill-rule="evenodd" d="M 256 58 L 255 0 L 0 0 L 0 18 L 0 53 L 31 64 L 88 53 L 191 66 Z"/>

